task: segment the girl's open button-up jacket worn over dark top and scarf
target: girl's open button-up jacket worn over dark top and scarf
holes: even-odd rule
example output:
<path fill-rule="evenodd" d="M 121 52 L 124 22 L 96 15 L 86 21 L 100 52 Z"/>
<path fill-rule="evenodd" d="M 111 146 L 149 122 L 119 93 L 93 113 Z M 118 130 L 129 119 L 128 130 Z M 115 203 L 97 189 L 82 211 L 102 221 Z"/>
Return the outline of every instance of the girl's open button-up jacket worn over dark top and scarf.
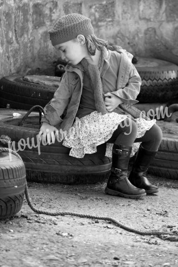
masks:
<path fill-rule="evenodd" d="M 108 53 L 104 55 L 105 64 L 102 76 L 105 75 L 109 67 L 111 53 L 112 51 L 108 50 Z M 123 104 L 114 109 L 114 112 L 139 117 L 141 112 L 132 104 L 138 102 L 136 98 L 140 92 L 141 78 L 132 64 L 132 57 L 130 53 L 122 53 L 121 50 L 116 91 L 112 93 L 119 96 Z M 76 66 L 67 64 L 65 70 L 54 98 L 44 107 L 44 116 L 41 122 L 47 122 L 58 129 L 68 131 L 74 122 L 80 104 L 83 88 L 83 67 L 80 63 Z"/>

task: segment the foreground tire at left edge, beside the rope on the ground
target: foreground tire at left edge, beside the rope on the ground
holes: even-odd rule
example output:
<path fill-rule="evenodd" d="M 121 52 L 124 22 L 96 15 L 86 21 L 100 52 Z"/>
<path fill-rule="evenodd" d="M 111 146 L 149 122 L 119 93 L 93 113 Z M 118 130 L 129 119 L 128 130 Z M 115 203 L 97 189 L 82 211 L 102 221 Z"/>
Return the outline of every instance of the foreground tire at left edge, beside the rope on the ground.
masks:
<path fill-rule="evenodd" d="M 8 149 L 3 150 L 5 148 L 0 148 L 0 220 L 20 211 L 26 185 L 24 163 L 14 155 L 10 161 Z"/>

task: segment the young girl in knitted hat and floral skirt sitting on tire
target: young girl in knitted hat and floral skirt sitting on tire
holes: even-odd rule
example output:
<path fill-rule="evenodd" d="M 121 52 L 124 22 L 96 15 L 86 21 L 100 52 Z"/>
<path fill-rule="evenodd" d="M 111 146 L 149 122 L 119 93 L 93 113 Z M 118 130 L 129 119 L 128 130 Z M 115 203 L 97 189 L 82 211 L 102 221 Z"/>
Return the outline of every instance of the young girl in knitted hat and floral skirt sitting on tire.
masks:
<path fill-rule="evenodd" d="M 70 156 L 95 153 L 97 145 L 112 147 L 112 168 L 105 192 L 125 198 L 158 192 L 145 172 L 161 139 L 156 120 L 134 108 L 141 79 L 133 56 L 120 46 L 108 46 L 94 35 L 91 20 L 81 14 L 61 17 L 49 31 L 50 40 L 66 60 L 65 74 L 54 98 L 45 106 L 39 137 L 48 144 L 66 133 Z M 140 143 L 128 178 L 134 143 Z"/>

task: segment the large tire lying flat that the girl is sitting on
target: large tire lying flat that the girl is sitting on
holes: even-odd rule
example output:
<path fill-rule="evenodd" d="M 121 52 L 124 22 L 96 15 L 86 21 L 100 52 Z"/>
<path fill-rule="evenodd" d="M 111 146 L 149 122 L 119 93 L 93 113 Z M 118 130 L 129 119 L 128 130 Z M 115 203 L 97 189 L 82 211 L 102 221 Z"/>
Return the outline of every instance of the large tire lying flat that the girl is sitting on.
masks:
<path fill-rule="evenodd" d="M 0 120 L 0 136 L 8 135 L 16 145 L 21 138 L 26 142 L 28 137 L 30 140 L 36 140 L 39 129 L 8 124 L 11 121 L 17 124 L 19 118 Z M 4 145 L 7 147 L 7 144 Z M 17 148 L 16 146 L 16 150 Z M 86 154 L 84 158 L 79 159 L 69 156 L 70 149 L 64 147 L 62 142 L 56 141 L 51 145 L 41 144 L 40 155 L 37 148 L 26 148 L 18 151 L 18 154 L 26 166 L 27 181 L 80 184 L 102 182 L 109 178 L 111 159 L 105 156 L 105 150 L 106 144 L 98 145 L 96 153 Z"/>

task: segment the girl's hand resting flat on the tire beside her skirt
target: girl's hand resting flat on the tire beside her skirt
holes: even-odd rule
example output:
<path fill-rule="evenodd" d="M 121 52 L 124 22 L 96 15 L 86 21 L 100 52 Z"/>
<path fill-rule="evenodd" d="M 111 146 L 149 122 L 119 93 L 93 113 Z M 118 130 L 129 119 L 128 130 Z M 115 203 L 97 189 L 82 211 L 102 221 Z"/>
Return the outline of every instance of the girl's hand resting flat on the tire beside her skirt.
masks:
<path fill-rule="evenodd" d="M 56 127 L 44 122 L 40 128 L 38 137 L 40 140 L 42 138 L 45 144 L 51 144 L 55 142 L 55 133 L 56 136 L 59 137 L 59 130 Z"/>

